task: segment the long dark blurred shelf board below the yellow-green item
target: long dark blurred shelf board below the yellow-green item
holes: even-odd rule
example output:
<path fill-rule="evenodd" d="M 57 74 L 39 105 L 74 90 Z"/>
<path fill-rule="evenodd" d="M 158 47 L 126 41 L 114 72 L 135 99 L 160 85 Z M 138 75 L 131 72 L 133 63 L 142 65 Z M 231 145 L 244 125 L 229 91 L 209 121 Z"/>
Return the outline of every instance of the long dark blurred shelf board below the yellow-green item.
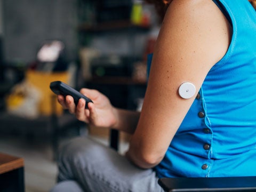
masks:
<path fill-rule="evenodd" d="M 79 31 L 85 32 L 101 32 L 110 30 L 121 30 L 121 29 L 140 29 L 148 30 L 150 26 L 134 25 L 131 21 L 111 21 L 105 23 L 98 23 L 97 25 L 82 24 L 78 27 Z"/>

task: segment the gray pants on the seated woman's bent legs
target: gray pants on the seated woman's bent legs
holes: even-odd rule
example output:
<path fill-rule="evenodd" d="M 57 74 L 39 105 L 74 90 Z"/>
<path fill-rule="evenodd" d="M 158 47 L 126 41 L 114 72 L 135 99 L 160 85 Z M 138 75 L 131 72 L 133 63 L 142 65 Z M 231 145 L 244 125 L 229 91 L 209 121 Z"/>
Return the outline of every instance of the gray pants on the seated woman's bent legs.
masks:
<path fill-rule="evenodd" d="M 152 169 L 134 166 L 115 150 L 89 138 L 65 145 L 58 162 L 57 191 L 163 191 Z"/>

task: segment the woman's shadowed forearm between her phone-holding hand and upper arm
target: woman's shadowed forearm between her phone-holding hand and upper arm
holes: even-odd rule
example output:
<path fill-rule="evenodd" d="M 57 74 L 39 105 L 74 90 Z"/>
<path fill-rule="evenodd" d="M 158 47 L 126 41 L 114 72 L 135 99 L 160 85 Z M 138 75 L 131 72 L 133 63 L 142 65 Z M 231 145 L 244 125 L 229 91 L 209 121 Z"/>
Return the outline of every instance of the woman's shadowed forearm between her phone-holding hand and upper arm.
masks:
<path fill-rule="evenodd" d="M 118 108 L 114 110 L 117 122 L 111 128 L 133 134 L 139 121 L 140 112 Z"/>

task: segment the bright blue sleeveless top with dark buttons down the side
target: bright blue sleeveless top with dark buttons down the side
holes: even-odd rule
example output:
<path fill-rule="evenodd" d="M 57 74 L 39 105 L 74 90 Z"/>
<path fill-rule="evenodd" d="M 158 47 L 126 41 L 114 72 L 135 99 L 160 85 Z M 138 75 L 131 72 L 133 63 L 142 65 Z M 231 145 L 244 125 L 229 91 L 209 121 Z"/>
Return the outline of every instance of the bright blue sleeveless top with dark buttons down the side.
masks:
<path fill-rule="evenodd" d="M 155 167 L 159 178 L 256 175 L 256 12 L 247 0 L 214 2 L 231 43 Z"/>

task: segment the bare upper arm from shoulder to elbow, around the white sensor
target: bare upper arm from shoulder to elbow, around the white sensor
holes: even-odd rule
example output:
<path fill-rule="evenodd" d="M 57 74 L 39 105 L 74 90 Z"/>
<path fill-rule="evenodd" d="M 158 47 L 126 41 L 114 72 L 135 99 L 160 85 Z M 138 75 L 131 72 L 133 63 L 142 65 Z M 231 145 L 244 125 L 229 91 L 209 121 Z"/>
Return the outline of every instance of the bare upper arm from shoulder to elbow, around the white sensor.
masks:
<path fill-rule="evenodd" d="M 135 163 L 161 161 L 196 97 L 182 99 L 179 86 L 191 82 L 197 93 L 211 67 L 225 55 L 229 37 L 227 20 L 212 1 L 174 0 L 170 4 L 130 143 L 129 150 L 136 151 Z"/>

